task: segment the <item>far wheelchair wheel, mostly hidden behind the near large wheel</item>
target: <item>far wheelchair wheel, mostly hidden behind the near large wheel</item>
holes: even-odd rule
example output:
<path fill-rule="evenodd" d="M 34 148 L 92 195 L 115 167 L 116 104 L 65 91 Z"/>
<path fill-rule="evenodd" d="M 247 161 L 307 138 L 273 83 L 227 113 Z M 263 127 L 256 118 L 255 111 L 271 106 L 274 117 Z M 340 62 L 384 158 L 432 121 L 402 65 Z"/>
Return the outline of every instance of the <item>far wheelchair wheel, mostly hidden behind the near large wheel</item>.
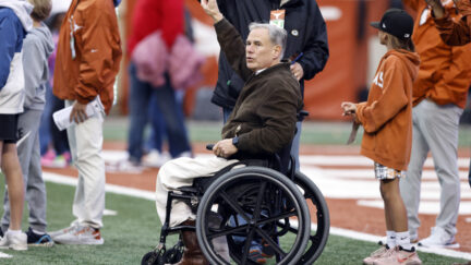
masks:
<path fill-rule="evenodd" d="M 321 190 L 305 174 L 295 172 L 294 183 L 302 190 L 311 210 L 311 233 L 307 248 L 298 264 L 313 264 L 324 251 L 330 229 L 327 203 Z M 298 228 L 291 228 L 293 230 Z"/>

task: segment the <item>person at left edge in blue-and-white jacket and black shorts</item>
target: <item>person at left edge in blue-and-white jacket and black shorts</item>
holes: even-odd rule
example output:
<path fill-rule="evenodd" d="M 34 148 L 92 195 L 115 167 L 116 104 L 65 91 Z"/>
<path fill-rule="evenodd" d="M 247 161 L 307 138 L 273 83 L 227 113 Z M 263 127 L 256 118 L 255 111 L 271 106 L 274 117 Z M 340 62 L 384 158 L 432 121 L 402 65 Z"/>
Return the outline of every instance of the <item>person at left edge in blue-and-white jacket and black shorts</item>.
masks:
<path fill-rule="evenodd" d="M 32 10 L 25 0 L 0 0 L 0 167 L 9 190 L 11 217 L 0 248 L 13 250 L 27 250 L 27 237 L 21 230 L 24 185 L 16 129 L 24 104 L 23 38 L 33 27 Z"/>

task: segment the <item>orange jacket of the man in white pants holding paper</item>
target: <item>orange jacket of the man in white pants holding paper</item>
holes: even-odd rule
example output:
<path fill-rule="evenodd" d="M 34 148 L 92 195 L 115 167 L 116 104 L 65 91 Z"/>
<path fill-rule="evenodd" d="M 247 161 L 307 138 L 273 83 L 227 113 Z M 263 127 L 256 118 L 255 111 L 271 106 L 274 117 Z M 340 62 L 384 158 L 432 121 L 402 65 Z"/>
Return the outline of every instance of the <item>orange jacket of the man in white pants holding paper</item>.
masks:
<path fill-rule="evenodd" d="M 73 0 L 59 34 L 53 94 L 81 104 L 99 95 L 109 113 L 121 53 L 113 2 Z"/>

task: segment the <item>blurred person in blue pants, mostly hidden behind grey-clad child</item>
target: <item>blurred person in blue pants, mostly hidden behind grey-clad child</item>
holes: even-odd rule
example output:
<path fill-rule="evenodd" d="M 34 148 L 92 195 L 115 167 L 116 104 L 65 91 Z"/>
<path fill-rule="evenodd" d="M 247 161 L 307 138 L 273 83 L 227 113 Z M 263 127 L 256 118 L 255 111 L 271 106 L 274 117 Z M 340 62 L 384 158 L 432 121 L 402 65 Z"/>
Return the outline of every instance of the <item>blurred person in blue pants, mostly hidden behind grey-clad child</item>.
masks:
<path fill-rule="evenodd" d="M 59 29 L 65 12 L 72 0 L 53 0 L 52 11 L 47 24 L 52 32 L 55 47 L 59 41 Z M 49 82 L 46 91 L 46 106 L 41 116 L 39 128 L 39 142 L 41 152 L 41 166 L 50 168 L 63 168 L 71 161 L 69 141 L 65 131 L 59 131 L 52 121 L 52 113 L 64 107 L 64 100 L 52 94 L 53 71 L 56 63 L 56 50 L 49 57 Z"/>

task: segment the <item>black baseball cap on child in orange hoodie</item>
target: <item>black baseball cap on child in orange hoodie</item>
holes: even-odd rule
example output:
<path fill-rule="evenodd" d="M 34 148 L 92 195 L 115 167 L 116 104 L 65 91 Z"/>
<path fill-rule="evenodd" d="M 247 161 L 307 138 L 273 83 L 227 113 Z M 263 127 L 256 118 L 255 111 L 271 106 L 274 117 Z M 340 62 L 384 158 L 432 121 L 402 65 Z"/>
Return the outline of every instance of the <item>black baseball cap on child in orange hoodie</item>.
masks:
<path fill-rule="evenodd" d="M 401 9 L 387 10 L 379 22 L 371 25 L 403 40 L 409 39 L 413 32 L 412 16 Z"/>

